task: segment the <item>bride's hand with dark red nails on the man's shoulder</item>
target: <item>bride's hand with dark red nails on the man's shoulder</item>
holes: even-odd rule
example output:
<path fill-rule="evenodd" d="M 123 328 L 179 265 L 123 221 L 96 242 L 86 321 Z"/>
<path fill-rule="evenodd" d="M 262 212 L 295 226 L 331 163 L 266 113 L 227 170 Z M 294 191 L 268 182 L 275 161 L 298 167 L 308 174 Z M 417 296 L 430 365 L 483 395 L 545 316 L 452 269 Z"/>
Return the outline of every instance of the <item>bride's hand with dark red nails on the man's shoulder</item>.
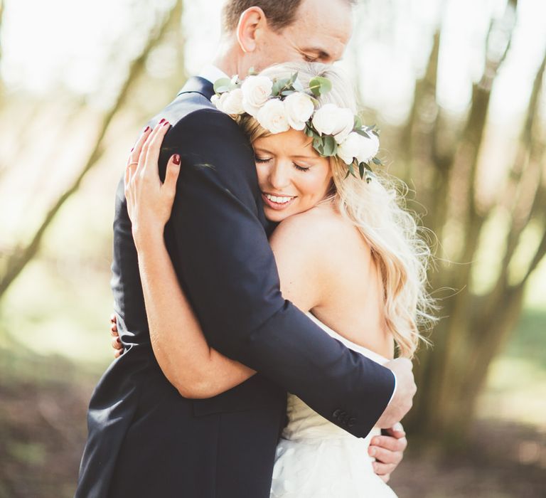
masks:
<path fill-rule="evenodd" d="M 161 142 L 169 127 L 169 123 L 162 120 L 153 131 L 147 128 L 127 161 L 125 198 L 137 248 L 144 240 L 163 236 L 165 224 L 171 217 L 180 156 L 175 154 L 168 160 L 164 183 L 159 179 L 158 170 Z"/>

